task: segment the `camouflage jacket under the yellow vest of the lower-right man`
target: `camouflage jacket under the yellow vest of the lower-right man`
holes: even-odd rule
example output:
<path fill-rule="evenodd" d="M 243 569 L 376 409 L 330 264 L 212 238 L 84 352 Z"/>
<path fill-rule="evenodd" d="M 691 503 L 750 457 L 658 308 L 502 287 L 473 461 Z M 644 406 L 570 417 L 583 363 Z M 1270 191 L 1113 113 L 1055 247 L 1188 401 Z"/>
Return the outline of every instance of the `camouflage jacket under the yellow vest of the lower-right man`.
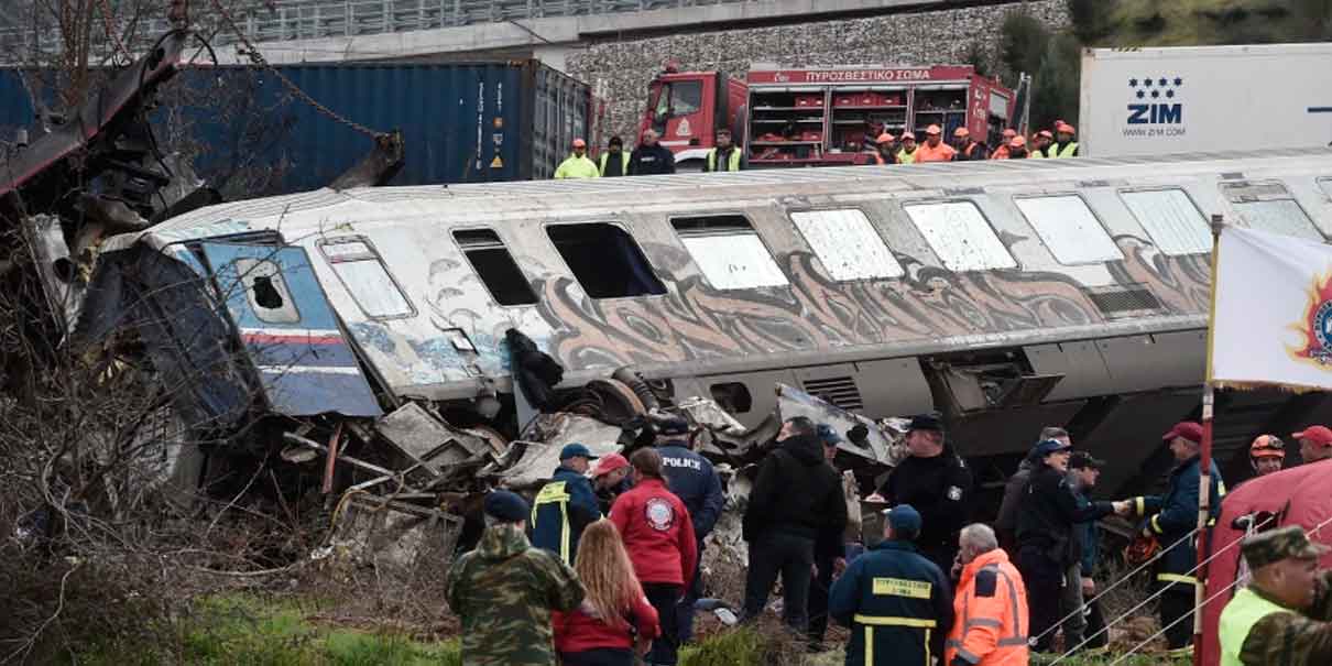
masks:
<path fill-rule="evenodd" d="M 1256 594 L 1261 594 L 1249 587 Z M 1332 663 L 1332 571 L 1321 571 L 1307 613 L 1272 613 L 1244 638 L 1247 666 L 1325 666 Z"/>

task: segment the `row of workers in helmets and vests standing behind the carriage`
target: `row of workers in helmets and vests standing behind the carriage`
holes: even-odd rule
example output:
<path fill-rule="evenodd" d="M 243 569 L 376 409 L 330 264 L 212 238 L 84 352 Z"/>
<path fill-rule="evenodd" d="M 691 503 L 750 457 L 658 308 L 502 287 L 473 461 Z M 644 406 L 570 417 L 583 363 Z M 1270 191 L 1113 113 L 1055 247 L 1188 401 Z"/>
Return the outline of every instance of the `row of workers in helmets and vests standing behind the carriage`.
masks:
<path fill-rule="evenodd" d="M 1052 131 L 1035 132 L 1030 140 L 1012 129 L 1004 129 L 998 145 L 991 148 L 975 140 L 971 131 L 964 127 L 954 129 L 952 141 L 944 143 L 943 129 L 939 125 L 930 125 L 924 129 L 924 143 L 918 144 L 915 133 L 903 132 L 900 136 L 892 136 L 891 132 L 882 131 L 880 125 L 876 133 L 866 136 L 864 152 L 870 155 L 870 163 L 876 165 L 1068 159 L 1078 157 L 1076 136 L 1076 128 L 1056 120 Z M 733 143 L 731 131 L 719 129 L 715 137 L 715 148 L 709 149 L 703 159 L 703 170 L 741 170 L 745 164 L 745 151 Z M 575 139 L 573 153 L 559 164 L 554 177 L 606 178 L 675 173 L 675 157 L 658 139 L 657 132 L 649 129 L 643 132 L 642 143 L 633 152 L 626 152 L 625 141 L 613 136 L 595 161 L 587 156 L 587 143 Z"/>

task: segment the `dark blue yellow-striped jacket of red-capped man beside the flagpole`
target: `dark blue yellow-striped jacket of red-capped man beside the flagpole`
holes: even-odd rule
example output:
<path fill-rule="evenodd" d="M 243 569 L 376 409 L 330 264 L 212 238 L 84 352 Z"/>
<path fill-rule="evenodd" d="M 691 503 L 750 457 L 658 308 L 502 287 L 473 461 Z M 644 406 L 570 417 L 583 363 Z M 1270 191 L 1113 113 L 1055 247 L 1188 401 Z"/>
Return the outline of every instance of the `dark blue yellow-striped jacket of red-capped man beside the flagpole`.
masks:
<path fill-rule="evenodd" d="M 1151 530 L 1156 535 L 1163 549 L 1167 549 L 1156 565 L 1156 579 L 1163 583 L 1196 582 L 1196 577 L 1189 573 L 1197 566 L 1197 549 L 1195 543 L 1197 535 L 1184 538 L 1185 534 L 1197 527 L 1197 478 L 1199 456 L 1180 462 L 1169 473 L 1169 486 L 1164 496 L 1148 496 L 1134 498 L 1134 509 L 1143 517 L 1143 529 Z M 1221 498 L 1225 496 L 1225 482 L 1221 481 L 1216 462 L 1211 464 L 1212 484 L 1208 496 L 1211 498 L 1211 517 L 1221 513 Z M 1171 543 L 1179 541 L 1175 547 Z"/>

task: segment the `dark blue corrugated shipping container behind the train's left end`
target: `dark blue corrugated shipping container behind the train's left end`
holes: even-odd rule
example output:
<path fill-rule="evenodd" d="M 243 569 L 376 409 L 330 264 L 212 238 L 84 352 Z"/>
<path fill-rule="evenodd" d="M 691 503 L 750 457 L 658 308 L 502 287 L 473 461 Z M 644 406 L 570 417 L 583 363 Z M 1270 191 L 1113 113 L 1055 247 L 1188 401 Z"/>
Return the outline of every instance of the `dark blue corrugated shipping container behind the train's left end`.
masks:
<path fill-rule="evenodd" d="M 406 164 L 393 185 L 549 178 L 573 140 L 589 139 L 589 88 L 535 60 L 277 71 L 329 112 L 380 132 L 400 129 Z M 197 149 L 186 152 L 210 181 L 238 164 L 280 169 L 248 194 L 320 188 L 373 148 L 266 69 L 200 68 L 177 79 L 152 116 L 159 140 L 192 137 Z M 4 139 L 32 117 L 17 73 L 3 72 L 0 127 L 11 128 Z"/>

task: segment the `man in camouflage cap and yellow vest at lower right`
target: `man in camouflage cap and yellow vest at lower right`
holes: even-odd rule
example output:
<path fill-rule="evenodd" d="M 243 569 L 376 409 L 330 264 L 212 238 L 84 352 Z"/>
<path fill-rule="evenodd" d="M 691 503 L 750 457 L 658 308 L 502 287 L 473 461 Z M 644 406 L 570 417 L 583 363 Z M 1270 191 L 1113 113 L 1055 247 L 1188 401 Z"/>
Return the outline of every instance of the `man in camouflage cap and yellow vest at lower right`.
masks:
<path fill-rule="evenodd" d="M 1240 549 L 1253 578 L 1221 610 L 1220 666 L 1332 663 L 1332 571 L 1319 569 L 1328 546 L 1289 525 Z"/>

